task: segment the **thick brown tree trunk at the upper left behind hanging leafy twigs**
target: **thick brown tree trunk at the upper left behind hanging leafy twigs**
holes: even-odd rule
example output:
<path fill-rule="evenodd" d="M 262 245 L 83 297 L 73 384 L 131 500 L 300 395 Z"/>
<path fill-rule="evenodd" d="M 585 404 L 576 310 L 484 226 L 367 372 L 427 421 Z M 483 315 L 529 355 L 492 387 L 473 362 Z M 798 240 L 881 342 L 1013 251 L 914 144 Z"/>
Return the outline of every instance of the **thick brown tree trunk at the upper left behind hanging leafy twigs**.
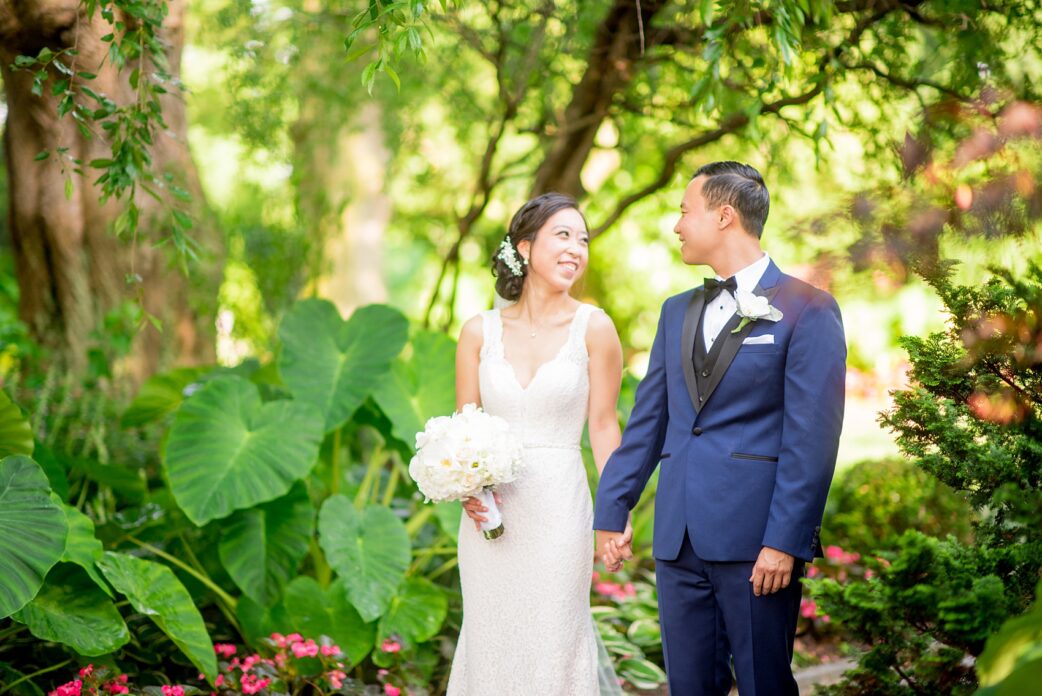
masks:
<path fill-rule="evenodd" d="M 177 76 L 183 34 L 183 0 L 171 0 L 164 25 L 168 46 L 168 69 Z M 113 31 L 110 24 L 95 16 L 89 20 L 78 0 L 0 0 L 0 72 L 3 75 L 8 114 L 4 149 L 10 189 L 9 228 L 20 291 L 19 314 L 34 339 L 48 347 L 55 358 L 80 372 L 86 366 L 92 332 L 102 328 L 105 314 L 123 301 L 132 301 L 133 289 L 127 275 L 142 278 L 143 308 L 158 317 L 163 332 L 148 324 L 133 338 L 129 354 L 120 361 L 116 374 L 140 382 L 160 365 L 171 362 L 195 364 L 214 358 L 210 308 L 200 312 L 198 297 L 216 296 L 217 278 L 193 269 L 185 278 L 172 263 L 172 252 L 157 249 L 151 242 L 160 235 L 152 228 L 162 224 L 163 206 L 141 196 L 139 240 L 118 240 L 111 225 L 124 202 L 101 203 L 99 190 L 85 163 L 110 158 L 109 143 L 100 134 L 84 138 L 71 117 L 57 116 L 58 97 L 51 95 L 51 82 L 44 94 L 31 93 L 32 75 L 11 71 L 19 54 L 35 55 L 42 48 L 58 51 L 75 46 L 79 51 L 76 69 L 97 74 L 82 80 L 95 92 L 119 104 L 133 99 L 128 75 L 103 60 L 108 45 L 101 36 Z M 126 73 L 129 71 L 127 70 Z M 144 72 L 144 71 L 143 71 Z M 51 75 L 51 80 L 54 75 Z M 76 78 L 79 80 L 79 78 Z M 201 221 L 202 191 L 187 142 L 184 102 L 172 91 L 163 99 L 163 114 L 169 128 L 156 133 L 152 150 L 159 172 L 170 173 L 193 197 L 196 219 Z M 86 176 L 71 172 L 71 164 L 56 156 L 57 148 L 68 148 L 71 157 L 84 163 Z M 43 150 L 50 152 L 35 161 Z M 66 178 L 72 178 L 71 195 L 66 196 Z M 192 235 L 205 252 L 214 253 L 213 230 L 199 224 Z M 210 268 L 217 270 L 218 265 Z M 195 290 L 190 291 L 190 281 Z M 105 341 L 105 338 L 101 339 Z"/>

